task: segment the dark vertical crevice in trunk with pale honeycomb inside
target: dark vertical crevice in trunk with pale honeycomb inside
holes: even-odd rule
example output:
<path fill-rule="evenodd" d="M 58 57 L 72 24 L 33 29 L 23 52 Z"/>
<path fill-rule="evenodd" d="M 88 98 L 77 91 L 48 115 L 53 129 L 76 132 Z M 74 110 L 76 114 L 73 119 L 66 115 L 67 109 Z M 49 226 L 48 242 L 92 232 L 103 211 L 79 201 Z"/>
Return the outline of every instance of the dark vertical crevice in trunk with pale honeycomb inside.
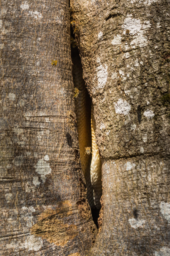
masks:
<path fill-rule="evenodd" d="M 79 90 L 79 95 L 75 98 L 75 109 L 80 160 L 87 187 L 87 200 L 91 208 L 93 220 L 98 228 L 97 220 L 101 209 L 102 182 L 101 161 L 95 138 L 94 108 L 93 104 L 91 108 L 91 99 L 83 80 L 81 58 L 75 44 L 71 47 L 71 58 L 73 63 L 73 84 Z M 85 147 L 92 147 L 92 155 L 85 154 Z"/>

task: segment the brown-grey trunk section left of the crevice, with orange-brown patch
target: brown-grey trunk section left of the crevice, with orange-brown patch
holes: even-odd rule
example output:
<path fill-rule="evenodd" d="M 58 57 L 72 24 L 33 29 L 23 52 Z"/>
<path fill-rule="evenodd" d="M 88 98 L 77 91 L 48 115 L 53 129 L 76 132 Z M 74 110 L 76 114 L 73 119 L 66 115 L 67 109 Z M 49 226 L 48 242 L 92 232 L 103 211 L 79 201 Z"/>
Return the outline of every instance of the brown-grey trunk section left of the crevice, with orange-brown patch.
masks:
<path fill-rule="evenodd" d="M 97 231 L 80 164 L 68 1 L 0 5 L 0 255 L 84 255 Z"/>

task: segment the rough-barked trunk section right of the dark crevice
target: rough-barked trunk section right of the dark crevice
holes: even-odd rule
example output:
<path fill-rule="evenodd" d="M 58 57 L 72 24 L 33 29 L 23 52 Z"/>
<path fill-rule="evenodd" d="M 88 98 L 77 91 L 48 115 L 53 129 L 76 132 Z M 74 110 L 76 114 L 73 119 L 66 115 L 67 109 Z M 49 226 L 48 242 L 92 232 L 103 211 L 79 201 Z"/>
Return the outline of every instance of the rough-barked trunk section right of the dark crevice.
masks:
<path fill-rule="evenodd" d="M 90 256 L 164 255 L 169 237 L 169 1 L 72 0 L 102 157 Z"/>

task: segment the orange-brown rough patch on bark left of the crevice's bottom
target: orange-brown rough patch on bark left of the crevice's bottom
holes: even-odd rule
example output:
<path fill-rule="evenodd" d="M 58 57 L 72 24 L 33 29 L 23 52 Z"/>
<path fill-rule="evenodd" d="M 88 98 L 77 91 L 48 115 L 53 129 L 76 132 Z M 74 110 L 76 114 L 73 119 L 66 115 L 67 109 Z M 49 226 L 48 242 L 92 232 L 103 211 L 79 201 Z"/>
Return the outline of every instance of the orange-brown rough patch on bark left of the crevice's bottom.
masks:
<path fill-rule="evenodd" d="M 60 202 L 56 209 L 45 210 L 38 222 L 31 228 L 31 234 L 47 239 L 50 243 L 63 246 L 77 236 L 77 226 L 64 221 L 63 216 L 72 214 L 72 205 L 68 201 Z"/>

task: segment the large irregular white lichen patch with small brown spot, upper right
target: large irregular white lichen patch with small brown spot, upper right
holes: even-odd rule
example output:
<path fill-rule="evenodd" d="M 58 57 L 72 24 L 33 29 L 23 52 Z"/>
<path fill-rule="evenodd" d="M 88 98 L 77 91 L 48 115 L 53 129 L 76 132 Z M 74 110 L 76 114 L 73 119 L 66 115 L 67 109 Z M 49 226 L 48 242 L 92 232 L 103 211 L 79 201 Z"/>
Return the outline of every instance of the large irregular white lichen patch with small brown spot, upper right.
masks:
<path fill-rule="evenodd" d="M 126 34 L 126 30 L 129 30 L 129 34 L 133 35 L 133 40 L 130 42 L 132 48 L 136 46 L 144 47 L 148 44 L 148 39 L 146 37 L 146 30 L 151 26 L 150 21 L 146 20 L 141 23 L 140 19 L 133 19 L 130 15 L 125 18 L 124 24 L 122 25 L 123 34 Z"/>

